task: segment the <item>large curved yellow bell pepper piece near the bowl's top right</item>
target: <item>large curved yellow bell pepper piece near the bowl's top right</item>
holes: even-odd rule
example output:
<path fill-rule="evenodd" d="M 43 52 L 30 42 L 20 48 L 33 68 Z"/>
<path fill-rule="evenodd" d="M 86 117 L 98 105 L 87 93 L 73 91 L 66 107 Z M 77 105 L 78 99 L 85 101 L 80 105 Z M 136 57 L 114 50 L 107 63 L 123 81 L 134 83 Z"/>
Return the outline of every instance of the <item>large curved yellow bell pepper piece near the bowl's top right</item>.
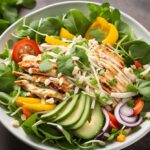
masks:
<path fill-rule="evenodd" d="M 104 18 L 101 17 L 96 18 L 96 20 L 91 24 L 91 26 L 87 30 L 85 38 L 87 39 L 92 38 L 90 36 L 90 31 L 93 29 L 98 29 L 104 33 L 105 38 L 102 41 L 103 44 L 114 45 L 118 40 L 119 34 L 117 28 L 113 24 L 107 22 L 107 20 L 105 20 Z"/>

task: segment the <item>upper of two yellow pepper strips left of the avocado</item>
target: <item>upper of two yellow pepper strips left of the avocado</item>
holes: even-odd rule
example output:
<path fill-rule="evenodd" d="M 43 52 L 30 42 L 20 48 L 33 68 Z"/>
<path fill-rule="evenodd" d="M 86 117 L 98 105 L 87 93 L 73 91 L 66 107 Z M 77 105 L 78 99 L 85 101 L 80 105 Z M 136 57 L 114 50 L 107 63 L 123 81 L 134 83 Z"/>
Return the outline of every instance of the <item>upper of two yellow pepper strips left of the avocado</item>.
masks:
<path fill-rule="evenodd" d="M 18 107 L 23 106 L 24 103 L 30 104 L 41 103 L 41 99 L 33 97 L 21 97 L 21 96 L 17 97 L 16 104 Z"/>

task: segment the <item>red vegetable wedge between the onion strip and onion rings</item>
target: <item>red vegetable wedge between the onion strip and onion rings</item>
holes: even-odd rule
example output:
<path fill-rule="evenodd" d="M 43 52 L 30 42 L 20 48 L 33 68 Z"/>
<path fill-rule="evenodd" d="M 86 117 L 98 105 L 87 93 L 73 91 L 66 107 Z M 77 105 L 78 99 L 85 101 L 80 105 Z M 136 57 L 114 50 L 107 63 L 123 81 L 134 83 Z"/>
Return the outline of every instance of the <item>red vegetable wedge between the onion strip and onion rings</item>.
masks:
<path fill-rule="evenodd" d="M 115 118 L 115 116 L 112 113 L 110 113 L 109 111 L 107 111 L 107 112 L 108 112 L 109 119 L 110 119 L 110 127 L 119 130 L 120 127 L 119 127 L 119 123 L 118 123 L 117 119 Z"/>

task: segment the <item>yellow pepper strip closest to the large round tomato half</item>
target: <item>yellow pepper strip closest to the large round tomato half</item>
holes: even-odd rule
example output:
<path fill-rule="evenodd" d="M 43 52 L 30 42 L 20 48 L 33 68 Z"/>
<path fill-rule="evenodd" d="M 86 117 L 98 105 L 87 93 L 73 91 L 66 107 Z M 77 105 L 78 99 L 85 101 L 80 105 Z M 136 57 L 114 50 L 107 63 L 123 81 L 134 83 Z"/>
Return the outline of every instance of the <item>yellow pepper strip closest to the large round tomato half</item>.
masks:
<path fill-rule="evenodd" d="M 46 36 L 45 37 L 45 42 L 51 45 L 63 45 L 63 46 L 68 46 L 68 43 L 65 43 L 59 39 L 54 38 L 53 36 Z"/>

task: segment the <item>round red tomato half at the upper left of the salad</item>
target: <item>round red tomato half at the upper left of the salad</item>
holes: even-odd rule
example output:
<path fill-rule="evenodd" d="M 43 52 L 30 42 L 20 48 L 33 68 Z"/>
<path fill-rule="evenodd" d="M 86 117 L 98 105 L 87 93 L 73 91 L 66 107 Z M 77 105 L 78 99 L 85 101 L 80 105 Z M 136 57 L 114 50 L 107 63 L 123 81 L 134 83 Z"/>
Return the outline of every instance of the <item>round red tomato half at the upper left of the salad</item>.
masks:
<path fill-rule="evenodd" d="M 22 54 L 31 54 L 37 56 L 41 51 L 35 41 L 23 39 L 15 43 L 13 46 L 12 58 L 18 63 L 21 61 Z"/>

